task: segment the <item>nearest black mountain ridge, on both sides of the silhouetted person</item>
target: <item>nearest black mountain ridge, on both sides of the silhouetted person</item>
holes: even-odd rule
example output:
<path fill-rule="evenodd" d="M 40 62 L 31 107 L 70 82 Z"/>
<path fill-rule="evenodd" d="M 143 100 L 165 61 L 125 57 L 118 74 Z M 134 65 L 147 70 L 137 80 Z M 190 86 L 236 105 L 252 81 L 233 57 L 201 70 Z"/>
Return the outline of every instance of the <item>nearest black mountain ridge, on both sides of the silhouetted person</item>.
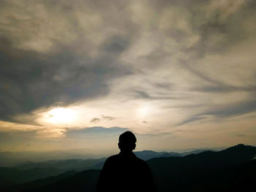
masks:
<path fill-rule="evenodd" d="M 151 158 L 147 163 L 159 192 L 252 191 L 256 180 L 255 155 L 256 147 L 236 145 L 219 152 L 206 151 L 184 157 Z M 87 170 L 65 178 L 54 177 L 59 179 L 52 180 L 53 182 L 45 178 L 5 191 L 92 192 L 95 191 L 99 172 L 100 170 Z M 48 183 L 42 185 L 45 180 Z"/>

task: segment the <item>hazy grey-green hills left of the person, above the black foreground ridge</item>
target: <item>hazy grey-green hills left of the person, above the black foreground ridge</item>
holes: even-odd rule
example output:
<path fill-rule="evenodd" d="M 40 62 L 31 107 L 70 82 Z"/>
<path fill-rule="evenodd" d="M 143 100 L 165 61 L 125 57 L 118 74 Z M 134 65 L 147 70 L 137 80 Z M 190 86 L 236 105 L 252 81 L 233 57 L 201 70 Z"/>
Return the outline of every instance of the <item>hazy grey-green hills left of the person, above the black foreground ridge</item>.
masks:
<path fill-rule="evenodd" d="M 80 172 L 86 169 L 100 169 L 97 164 L 103 164 L 105 158 L 67 159 L 59 161 L 29 162 L 12 167 L 0 167 L 0 186 L 52 177 L 64 172 Z"/>

